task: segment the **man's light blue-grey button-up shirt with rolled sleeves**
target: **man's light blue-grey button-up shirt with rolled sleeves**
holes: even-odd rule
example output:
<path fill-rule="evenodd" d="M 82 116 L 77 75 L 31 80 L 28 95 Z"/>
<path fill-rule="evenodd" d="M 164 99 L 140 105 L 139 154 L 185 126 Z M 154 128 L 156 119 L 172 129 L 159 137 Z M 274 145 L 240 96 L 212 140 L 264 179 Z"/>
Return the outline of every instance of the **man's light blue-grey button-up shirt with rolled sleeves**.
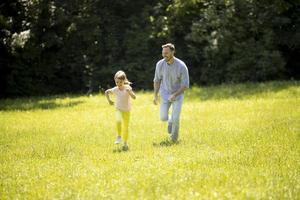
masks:
<path fill-rule="evenodd" d="M 160 96 L 168 100 L 169 96 L 182 86 L 189 87 L 189 72 L 185 63 L 174 57 L 174 62 L 168 64 L 165 59 L 156 63 L 154 82 L 160 82 Z M 176 100 L 183 97 L 183 94 L 176 97 Z"/>

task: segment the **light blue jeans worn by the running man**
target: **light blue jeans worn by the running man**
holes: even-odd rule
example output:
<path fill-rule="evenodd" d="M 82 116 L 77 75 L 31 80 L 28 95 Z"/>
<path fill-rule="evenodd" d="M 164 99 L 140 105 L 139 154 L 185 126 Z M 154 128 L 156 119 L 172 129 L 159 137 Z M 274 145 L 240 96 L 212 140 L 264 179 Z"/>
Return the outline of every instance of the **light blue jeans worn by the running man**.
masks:
<path fill-rule="evenodd" d="M 162 121 L 169 121 L 172 123 L 172 130 L 171 130 L 171 138 L 175 142 L 178 139 L 179 135 L 179 122 L 180 122 L 180 113 L 181 113 L 181 106 L 183 102 L 183 95 L 180 98 L 176 99 L 174 102 L 169 102 L 168 100 L 161 99 L 160 104 L 160 119 Z M 169 109 L 172 105 L 172 114 L 169 118 Z"/>

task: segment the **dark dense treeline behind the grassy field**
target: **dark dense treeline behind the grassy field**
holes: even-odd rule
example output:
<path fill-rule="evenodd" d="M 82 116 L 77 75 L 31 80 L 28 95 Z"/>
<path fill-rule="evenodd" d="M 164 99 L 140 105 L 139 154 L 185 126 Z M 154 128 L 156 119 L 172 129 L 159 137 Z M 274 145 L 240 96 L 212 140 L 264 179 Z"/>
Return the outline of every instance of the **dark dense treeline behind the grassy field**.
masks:
<path fill-rule="evenodd" d="M 172 42 L 192 84 L 300 78 L 299 0 L 2 0 L 0 95 L 152 88 Z"/>

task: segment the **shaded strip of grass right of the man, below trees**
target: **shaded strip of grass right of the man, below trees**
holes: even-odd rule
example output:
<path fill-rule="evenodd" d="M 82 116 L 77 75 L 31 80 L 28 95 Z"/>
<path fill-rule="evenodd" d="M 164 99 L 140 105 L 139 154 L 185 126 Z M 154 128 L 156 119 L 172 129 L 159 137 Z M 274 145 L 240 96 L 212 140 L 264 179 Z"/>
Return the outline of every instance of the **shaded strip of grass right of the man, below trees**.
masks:
<path fill-rule="evenodd" d="M 190 99 L 200 98 L 202 101 L 228 98 L 246 99 L 262 95 L 263 93 L 277 93 L 294 86 L 300 86 L 300 82 L 273 81 L 266 83 L 222 84 L 216 86 L 192 87 L 190 90 L 187 90 L 186 96 Z"/>

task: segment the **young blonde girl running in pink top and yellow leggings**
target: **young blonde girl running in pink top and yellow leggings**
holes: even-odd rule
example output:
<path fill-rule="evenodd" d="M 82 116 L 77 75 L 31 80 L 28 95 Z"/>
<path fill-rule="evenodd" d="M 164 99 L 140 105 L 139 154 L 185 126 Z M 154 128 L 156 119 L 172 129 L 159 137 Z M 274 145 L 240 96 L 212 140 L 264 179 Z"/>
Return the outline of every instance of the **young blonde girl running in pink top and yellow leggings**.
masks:
<path fill-rule="evenodd" d="M 128 150 L 128 126 L 130 118 L 131 103 L 130 98 L 135 99 L 136 96 L 130 87 L 130 82 L 128 81 L 125 72 L 118 71 L 115 74 L 116 87 L 110 88 L 105 91 L 105 96 L 110 105 L 114 105 L 114 102 L 110 99 L 110 94 L 116 95 L 116 120 L 117 120 L 117 139 L 115 144 L 120 144 L 123 140 L 123 150 Z M 123 127 L 122 127 L 123 125 Z M 123 129 L 123 130 L 122 130 Z M 121 133 L 122 137 L 121 137 Z"/>

